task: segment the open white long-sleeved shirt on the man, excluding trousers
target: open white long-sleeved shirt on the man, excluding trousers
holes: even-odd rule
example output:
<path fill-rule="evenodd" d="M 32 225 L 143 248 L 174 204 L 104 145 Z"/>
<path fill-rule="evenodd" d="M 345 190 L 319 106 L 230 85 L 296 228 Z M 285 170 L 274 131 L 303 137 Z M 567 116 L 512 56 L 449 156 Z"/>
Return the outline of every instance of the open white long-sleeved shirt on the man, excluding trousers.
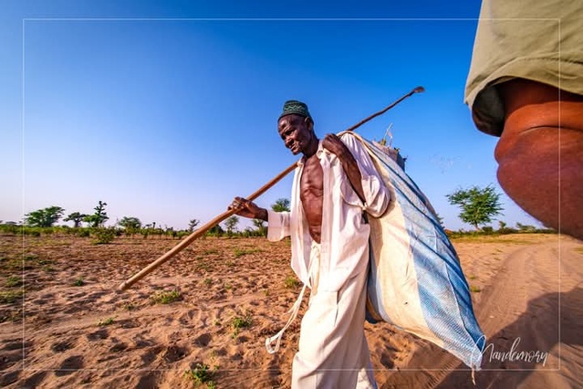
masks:
<path fill-rule="evenodd" d="M 338 157 L 324 149 L 320 142 L 317 155 L 324 173 L 324 193 L 319 289 L 328 291 L 337 291 L 347 279 L 367 268 L 370 226 L 364 221 L 363 211 L 378 217 L 390 200 L 389 192 L 366 150 L 350 133 L 344 133 L 340 139 L 359 165 L 366 203 L 363 204 L 352 189 Z M 307 269 L 312 237 L 299 198 L 303 168 L 300 160 L 292 185 L 291 211 L 267 211 L 267 239 L 276 241 L 291 236 L 291 267 L 297 277 L 311 288 Z"/>

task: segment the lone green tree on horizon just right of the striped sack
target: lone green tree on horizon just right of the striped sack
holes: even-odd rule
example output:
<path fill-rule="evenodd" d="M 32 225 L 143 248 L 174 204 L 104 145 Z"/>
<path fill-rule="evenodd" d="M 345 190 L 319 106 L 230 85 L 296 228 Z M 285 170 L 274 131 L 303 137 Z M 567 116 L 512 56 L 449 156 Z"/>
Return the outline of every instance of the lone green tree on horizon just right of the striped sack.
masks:
<path fill-rule="evenodd" d="M 474 226 L 476 230 L 480 229 L 480 225 L 490 223 L 494 216 L 501 215 L 504 209 L 500 205 L 500 195 L 491 185 L 484 189 L 478 186 L 458 189 L 446 197 L 451 205 L 458 205 L 462 209 L 460 219 Z"/>

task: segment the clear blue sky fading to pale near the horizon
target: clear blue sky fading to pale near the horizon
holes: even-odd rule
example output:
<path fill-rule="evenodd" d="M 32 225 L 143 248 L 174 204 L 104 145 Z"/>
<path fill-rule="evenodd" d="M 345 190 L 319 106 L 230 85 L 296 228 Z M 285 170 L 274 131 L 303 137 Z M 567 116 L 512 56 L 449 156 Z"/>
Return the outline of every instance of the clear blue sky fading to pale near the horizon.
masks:
<path fill-rule="evenodd" d="M 359 133 L 392 123 L 445 226 L 470 229 L 445 195 L 503 193 L 496 138 L 463 104 L 480 2 L 387 3 L 0 2 L 0 220 L 102 200 L 109 225 L 204 223 L 295 161 L 276 132 L 285 100 L 307 102 L 321 137 L 422 85 Z M 539 226 L 503 202 L 500 219 Z"/>

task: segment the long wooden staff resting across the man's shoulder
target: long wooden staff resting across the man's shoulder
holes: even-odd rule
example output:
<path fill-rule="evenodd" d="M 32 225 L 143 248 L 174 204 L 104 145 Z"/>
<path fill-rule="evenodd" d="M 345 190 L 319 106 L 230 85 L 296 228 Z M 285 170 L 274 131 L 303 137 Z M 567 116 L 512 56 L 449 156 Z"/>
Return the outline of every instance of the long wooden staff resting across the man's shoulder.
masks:
<path fill-rule="evenodd" d="M 362 124 L 364 124 L 367 121 L 370 121 L 371 119 L 374 119 L 377 116 L 385 113 L 387 110 L 390 110 L 392 107 L 394 107 L 395 105 L 399 104 L 402 100 L 407 99 L 412 94 L 414 94 L 414 93 L 420 93 L 420 92 L 422 92 L 424 90 L 425 89 L 423 87 L 417 87 L 415 89 L 412 89 L 409 93 L 407 93 L 406 95 L 402 96 L 401 99 L 394 101 L 387 108 L 385 108 L 383 110 L 380 110 L 380 111 L 378 111 L 376 113 L 373 113 L 368 118 L 366 118 L 366 119 L 364 119 L 362 121 L 359 121 L 358 123 L 356 123 L 355 125 L 353 125 L 349 129 L 347 129 L 346 131 L 353 131 L 353 130 L 359 128 Z M 260 195 L 263 195 L 267 191 L 267 189 L 271 188 L 279 180 L 281 180 L 282 178 L 284 178 L 288 173 L 290 173 L 294 169 L 296 169 L 296 163 L 292 163 L 291 165 L 289 165 L 289 167 L 287 167 L 286 170 L 284 170 L 283 172 L 277 174 L 275 178 L 273 178 L 267 184 L 265 184 L 261 188 L 259 188 L 253 195 L 249 195 L 248 197 L 245 197 L 245 198 L 248 199 L 248 200 L 252 200 L 252 201 L 255 200 L 255 198 L 259 197 Z M 223 214 L 214 217 L 213 220 L 211 220 L 210 222 L 208 222 L 204 226 L 198 228 L 191 235 L 189 235 L 188 237 L 184 238 L 175 247 L 172 247 L 172 249 L 170 249 L 166 254 L 164 254 L 160 258 L 156 259 L 155 261 L 153 261 L 147 267 L 142 268 L 138 273 L 136 273 L 130 279 L 128 279 L 125 282 L 123 282 L 120 285 L 120 287 L 118 287 L 118 289 L 120 289 L 120 290 L 129 289 L 134 283 L 136 283 L 137 281 L 139 281 L 140 279 L 142 279 L 144 276 L 146 276 L 148 273 L 150 273 L 154 268 L 158 268 L 161 264 L 163 264 L 164 262 L 166 262 L 168 259 L 170 259 L 170 258 L 174 257 L 176 254 L 180 253 L 184 248 L 186 248 L 188 245 L 190 245 L 193 242 L 194 239 L 203 236 L 203 234 L 206 231 L 208 231 L 209 229 L 213 228 L 213 226 L 218 225 L 219 223 L 221 223 L 222 221 L 224 221 L 227 217 L 233 216 L 238 211 L 239 211 L 238 209 L 230 209 L 230 210 L 224 212 Z"/>

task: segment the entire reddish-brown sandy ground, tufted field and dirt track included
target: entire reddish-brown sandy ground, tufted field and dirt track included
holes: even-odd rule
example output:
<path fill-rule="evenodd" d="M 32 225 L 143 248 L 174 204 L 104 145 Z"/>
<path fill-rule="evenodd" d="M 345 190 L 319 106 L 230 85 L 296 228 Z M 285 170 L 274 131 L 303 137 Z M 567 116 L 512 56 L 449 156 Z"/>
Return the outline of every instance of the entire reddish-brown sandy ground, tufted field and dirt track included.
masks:
<path fill-rule="evenodd" d="M 197 240 L 117 290 L 176 244 L 0 237 L 0 387 L 289 387 L 299 320 L 280 352 L 264 346 L 301 289 L 288 241 Z M 453 244 L 488 338 L 477 387 L 583 387 L 583 242 L 521 234 Z M 178 300 L 161 303 L 161 293 Z M 387 323 L 366 332 L 381 388 L 474 387 L 429 342 Z"/>

